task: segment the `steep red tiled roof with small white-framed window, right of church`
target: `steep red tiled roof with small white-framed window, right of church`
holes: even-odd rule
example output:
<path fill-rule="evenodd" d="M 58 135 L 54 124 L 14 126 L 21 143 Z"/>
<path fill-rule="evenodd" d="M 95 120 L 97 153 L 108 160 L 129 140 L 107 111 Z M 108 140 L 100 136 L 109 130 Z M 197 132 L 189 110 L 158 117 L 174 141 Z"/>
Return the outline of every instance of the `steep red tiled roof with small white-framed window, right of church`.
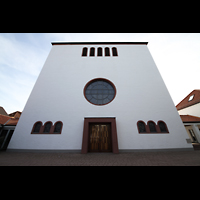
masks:
<path fill-rule="evenodd" d="M 194 98 L 189 101 L 189 98 L 194 95 Z M 179 104 L 176 105 L 177 110 L 181 110 L 183 108 L 187 108 L 196 103 L 200 103 L 200 90 L 193 90 L 190 94 L 188 94 Z"/>

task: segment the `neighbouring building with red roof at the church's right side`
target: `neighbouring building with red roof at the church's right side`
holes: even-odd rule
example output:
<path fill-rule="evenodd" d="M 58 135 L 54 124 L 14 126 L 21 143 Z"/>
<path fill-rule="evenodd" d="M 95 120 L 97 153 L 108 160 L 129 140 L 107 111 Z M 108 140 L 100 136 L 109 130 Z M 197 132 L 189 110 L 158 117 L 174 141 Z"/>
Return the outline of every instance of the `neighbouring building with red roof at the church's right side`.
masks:
<path fill-rule="evenodd" d="M 200 90 L 193 90 L 176 106 L 194 149 L 200 149 Z"/>

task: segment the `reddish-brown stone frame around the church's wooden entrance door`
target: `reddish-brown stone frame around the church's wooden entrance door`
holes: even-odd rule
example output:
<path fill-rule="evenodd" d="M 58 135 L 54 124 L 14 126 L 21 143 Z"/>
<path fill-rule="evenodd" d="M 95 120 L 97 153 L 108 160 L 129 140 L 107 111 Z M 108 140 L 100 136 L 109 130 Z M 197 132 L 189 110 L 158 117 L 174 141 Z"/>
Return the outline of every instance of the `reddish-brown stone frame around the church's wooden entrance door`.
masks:
<path fill-rule="evenodd" d="M 111 124 L 111 140 L 112 152 L 119 153 L 117 140 L 117 127 L 115 117 L 109 118 L 84 118 L 83 139 L 82 139 L 82 154 L 88 153 L 89 148 L 89 124 L 90 123 L 110 123 Z"/>

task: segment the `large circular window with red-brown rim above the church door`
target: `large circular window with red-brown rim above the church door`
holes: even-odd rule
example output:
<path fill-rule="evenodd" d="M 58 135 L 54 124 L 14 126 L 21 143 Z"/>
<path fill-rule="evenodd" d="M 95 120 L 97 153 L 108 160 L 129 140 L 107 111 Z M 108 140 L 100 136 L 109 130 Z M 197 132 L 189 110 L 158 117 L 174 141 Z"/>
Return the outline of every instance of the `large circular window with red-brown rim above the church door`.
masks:
<path fill-rule="evenodd" d="M 116 96 L 114 84 L 103 78 L 89 81 L 84 88 L 85 98 L 94 105 L 110 103 Z"/>

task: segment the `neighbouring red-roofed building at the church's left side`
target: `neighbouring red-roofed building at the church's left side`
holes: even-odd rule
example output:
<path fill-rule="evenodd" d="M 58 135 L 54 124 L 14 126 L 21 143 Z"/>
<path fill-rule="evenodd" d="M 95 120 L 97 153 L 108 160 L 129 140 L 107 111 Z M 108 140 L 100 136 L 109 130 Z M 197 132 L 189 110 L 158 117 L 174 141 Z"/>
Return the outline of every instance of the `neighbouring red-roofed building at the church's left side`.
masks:
<path fill-rule="evenodd" d="M 0 107 L 0 110 L 3 111 L 0 114 L 0 150 L 6 150 L 21 112 L 17 111 L 8 115 L 3 107 Z"/>

